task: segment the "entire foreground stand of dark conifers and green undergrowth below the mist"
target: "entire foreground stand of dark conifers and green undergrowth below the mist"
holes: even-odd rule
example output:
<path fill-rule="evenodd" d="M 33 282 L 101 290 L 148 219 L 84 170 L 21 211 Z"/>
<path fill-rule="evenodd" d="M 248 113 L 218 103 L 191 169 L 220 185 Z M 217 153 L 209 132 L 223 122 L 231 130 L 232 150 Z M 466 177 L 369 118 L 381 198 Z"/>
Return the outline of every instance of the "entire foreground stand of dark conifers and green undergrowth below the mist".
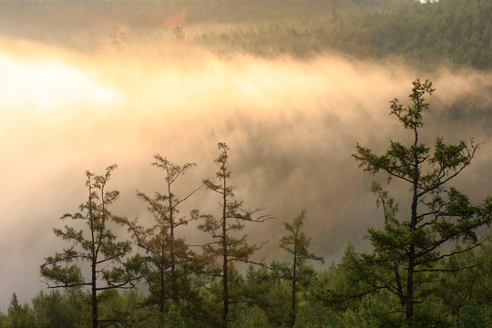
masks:
<path fill-rule="evenodd" d="M 477 233 L 492 221 L 492 197 L 476 204 L 450 185 L 480 144 L 440 137 L 432 146 L 422 143 L 425 97 L 433 92 L 431 81 L 417 79 L 407 104 L 391 101 L 408 143 L 391 141 L 381 155 L 355 148 L 364 171 L 409 190 L 409 209 L 400 209 L 387 186 L 374 181 L 382 214 L 381 225 L 367 231 L 371 251 L 348 245 L 340 263 L 314 270 L 313 261 L 329 259 L 310 251 L 302 210 L 280 218 L 286 260 L 251 261 L 262 244 L 242 230 L 271 218 L 237 199 L 231 149 L 220 142 L 215 178 L 182 194 L 179 178 L 195 164 L 156 155 L 163 190 L 137 192 L 153 222 L 143 226 L 110 210 L 118 200 L 118 191 L 108 189 L 116 166 L 101 175 L 87 171 L 87 200 L 54 229 L 67 248 L 40 268 L 48 292 L 25 304 L 14 294 L 0 327 L 492 327 L 492 243 L 487 231 Z M 217 211 L 181 213 L 202 188 L 219 200 Z M 188 243 L 179 230 L 190 222 L 208 242 Z M 118 225 L 130 240 L 118 240 Z"/>

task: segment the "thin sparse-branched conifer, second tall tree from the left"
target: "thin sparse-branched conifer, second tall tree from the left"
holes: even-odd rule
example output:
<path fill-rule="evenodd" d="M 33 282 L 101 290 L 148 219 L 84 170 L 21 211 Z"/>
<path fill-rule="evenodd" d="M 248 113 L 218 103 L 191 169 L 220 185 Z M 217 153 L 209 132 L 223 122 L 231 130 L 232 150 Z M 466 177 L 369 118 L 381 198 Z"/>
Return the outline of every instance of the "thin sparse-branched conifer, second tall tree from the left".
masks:
<path fill-rule="evenodd" d="M 180 216 L 179 206 L 197 191 L 200 187 L 190 190 L 180 197 L 174 193 L 173 187 L 177 179 L 195 163 L 185 163 L 181 166 L 172 163 L 162 156 L 155 155 L 153 166 L 164 172 L 165 191 L 156 191 L 154 197 L 137 191 L 138 198 L 143 200 L 149 212 L 154 217 L 154 225 L 145 228 L 138 224 L 138 220 L 120 220 L 128 227 L 135 243 L 147 253 L 144 277 L 149 284 L 149 292 L 157 298 L 159 312 L 166 312 L 168 299 L 179 307 L 183 295 L 183 283 L 188 276 L 201 266 L 200 257 L 186 243 L 184 238 L 176 235 L 176 230 L 195 219 Z M 169 287 L 168 287 L 169 286 Z"/>

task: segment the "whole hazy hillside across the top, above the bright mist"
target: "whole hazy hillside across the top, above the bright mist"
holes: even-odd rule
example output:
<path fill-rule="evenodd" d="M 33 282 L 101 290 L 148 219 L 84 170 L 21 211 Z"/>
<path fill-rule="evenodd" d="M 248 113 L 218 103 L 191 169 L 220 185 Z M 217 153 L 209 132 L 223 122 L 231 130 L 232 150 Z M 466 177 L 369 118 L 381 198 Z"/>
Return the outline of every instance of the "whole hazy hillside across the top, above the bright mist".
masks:
<path fill-rule="evenodd" d="M 115 25 L 132 32 L 125 36 L 128 43 L 155 42 L 151 36 L 157 32 L 171 36 L 171 29 L 166 30 L 162 22 L 185 12 L 188 20 L 182 27 L 190 43 L 221 56 L 311 58 L 335 53 L 405 62 L 426 70 L 492 65 L 492 4 L 487 0 L 2 0 L 0 6 L 4 34 L 62 42 L 83 51 L 108 46 Z M 8 13 L 14 14 L 15 22 Z M 83 36 L 84 30 L 90 36 Z"/>

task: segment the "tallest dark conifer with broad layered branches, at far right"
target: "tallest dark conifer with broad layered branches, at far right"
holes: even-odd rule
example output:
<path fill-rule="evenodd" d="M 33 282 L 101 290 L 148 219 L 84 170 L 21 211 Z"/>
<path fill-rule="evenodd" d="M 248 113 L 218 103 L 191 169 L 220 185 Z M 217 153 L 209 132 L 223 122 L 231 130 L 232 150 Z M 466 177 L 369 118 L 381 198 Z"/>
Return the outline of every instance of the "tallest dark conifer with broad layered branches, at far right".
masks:
<path fill-rule="evenodd" d="M 424 126 L 423 113 L 429 107 L 424 96 L 435 89 L 428 80 L 423 83 L 417 79 L 413 86 L 409 95 L 411 105 L 404 107 L 398 99 L 391 101 L 391 114 L 412 132 L 413 143 L 405 146 L 391 141 L 384 155 L 375 155 L 371 149 L 357 144 L 354 154 L 365 171 L 374 175 L 382 170 L 388 175 L 388 182 L 398 179 L 410 187 L 410 211 L 399 219 L 395 201 L 374 182 L 373 191 L 384 210 L 384 228 L 368 230 L 374 251 L 362 254 L 360 260 L 364 265 L 359 266 L 361 276 L 374 291 L 384 288 L 399 298 L 407 323 L 413 321 L 415 303 L 419 302 L 417 289 L 431 281 L 430 273 L 443 271 L 436 263 L 480 245 L 482 240 L 476 230 L 492 218 L 492 198 L 476 206 L 456 188 L 447 187 L 470 165 L 478 145 L 473 141 L 446 145 L 443 138 L 436 138 L 431 153 L 421 143 L 420 132 Z M 455 251 L 443 250 L 442 246 L 452 241 L 461 241 L 466 246 Z"/>

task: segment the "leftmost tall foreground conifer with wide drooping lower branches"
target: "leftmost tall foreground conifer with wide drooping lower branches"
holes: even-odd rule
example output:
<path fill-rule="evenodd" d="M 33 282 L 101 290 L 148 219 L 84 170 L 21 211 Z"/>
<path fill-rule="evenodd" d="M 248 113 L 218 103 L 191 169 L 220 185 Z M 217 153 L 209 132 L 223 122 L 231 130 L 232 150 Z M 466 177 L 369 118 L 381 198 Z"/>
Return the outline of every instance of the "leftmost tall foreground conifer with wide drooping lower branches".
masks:
<path fill-rule="evenodd" d="M 119 192 L 106 190 L 111 173 L 116 168 L 116 165 L 108 167 L 103 175 L 86 171 L 87 202 L 80 205 L 80 212 L 67 213 L 61 219 L 84 220 L 87 228 L 78 231 L 66 225 L 64 229 L 54 229 L 56 237 L 71 242 L 71 246 L 47 257 L 40 268 L 48 288 L 90 287 L 93 328 L 97 328 L 100 322 L 118 320 L 99 319 L 97 293 L 132 287 L 133 282 L 138 280 L 142 260 L 138 255 L 128 258 L 130 242 L 117 241 L 117 237 L 108 228 L 108 223 L 117 218 L 109 211 L 108 206 L 118 200 Z M 89 263 L 89 277 L 84 277 L 82 273 L 79 266 L 82 262 Z M 106 282 L 102 286 L 101 280 Z"/>

